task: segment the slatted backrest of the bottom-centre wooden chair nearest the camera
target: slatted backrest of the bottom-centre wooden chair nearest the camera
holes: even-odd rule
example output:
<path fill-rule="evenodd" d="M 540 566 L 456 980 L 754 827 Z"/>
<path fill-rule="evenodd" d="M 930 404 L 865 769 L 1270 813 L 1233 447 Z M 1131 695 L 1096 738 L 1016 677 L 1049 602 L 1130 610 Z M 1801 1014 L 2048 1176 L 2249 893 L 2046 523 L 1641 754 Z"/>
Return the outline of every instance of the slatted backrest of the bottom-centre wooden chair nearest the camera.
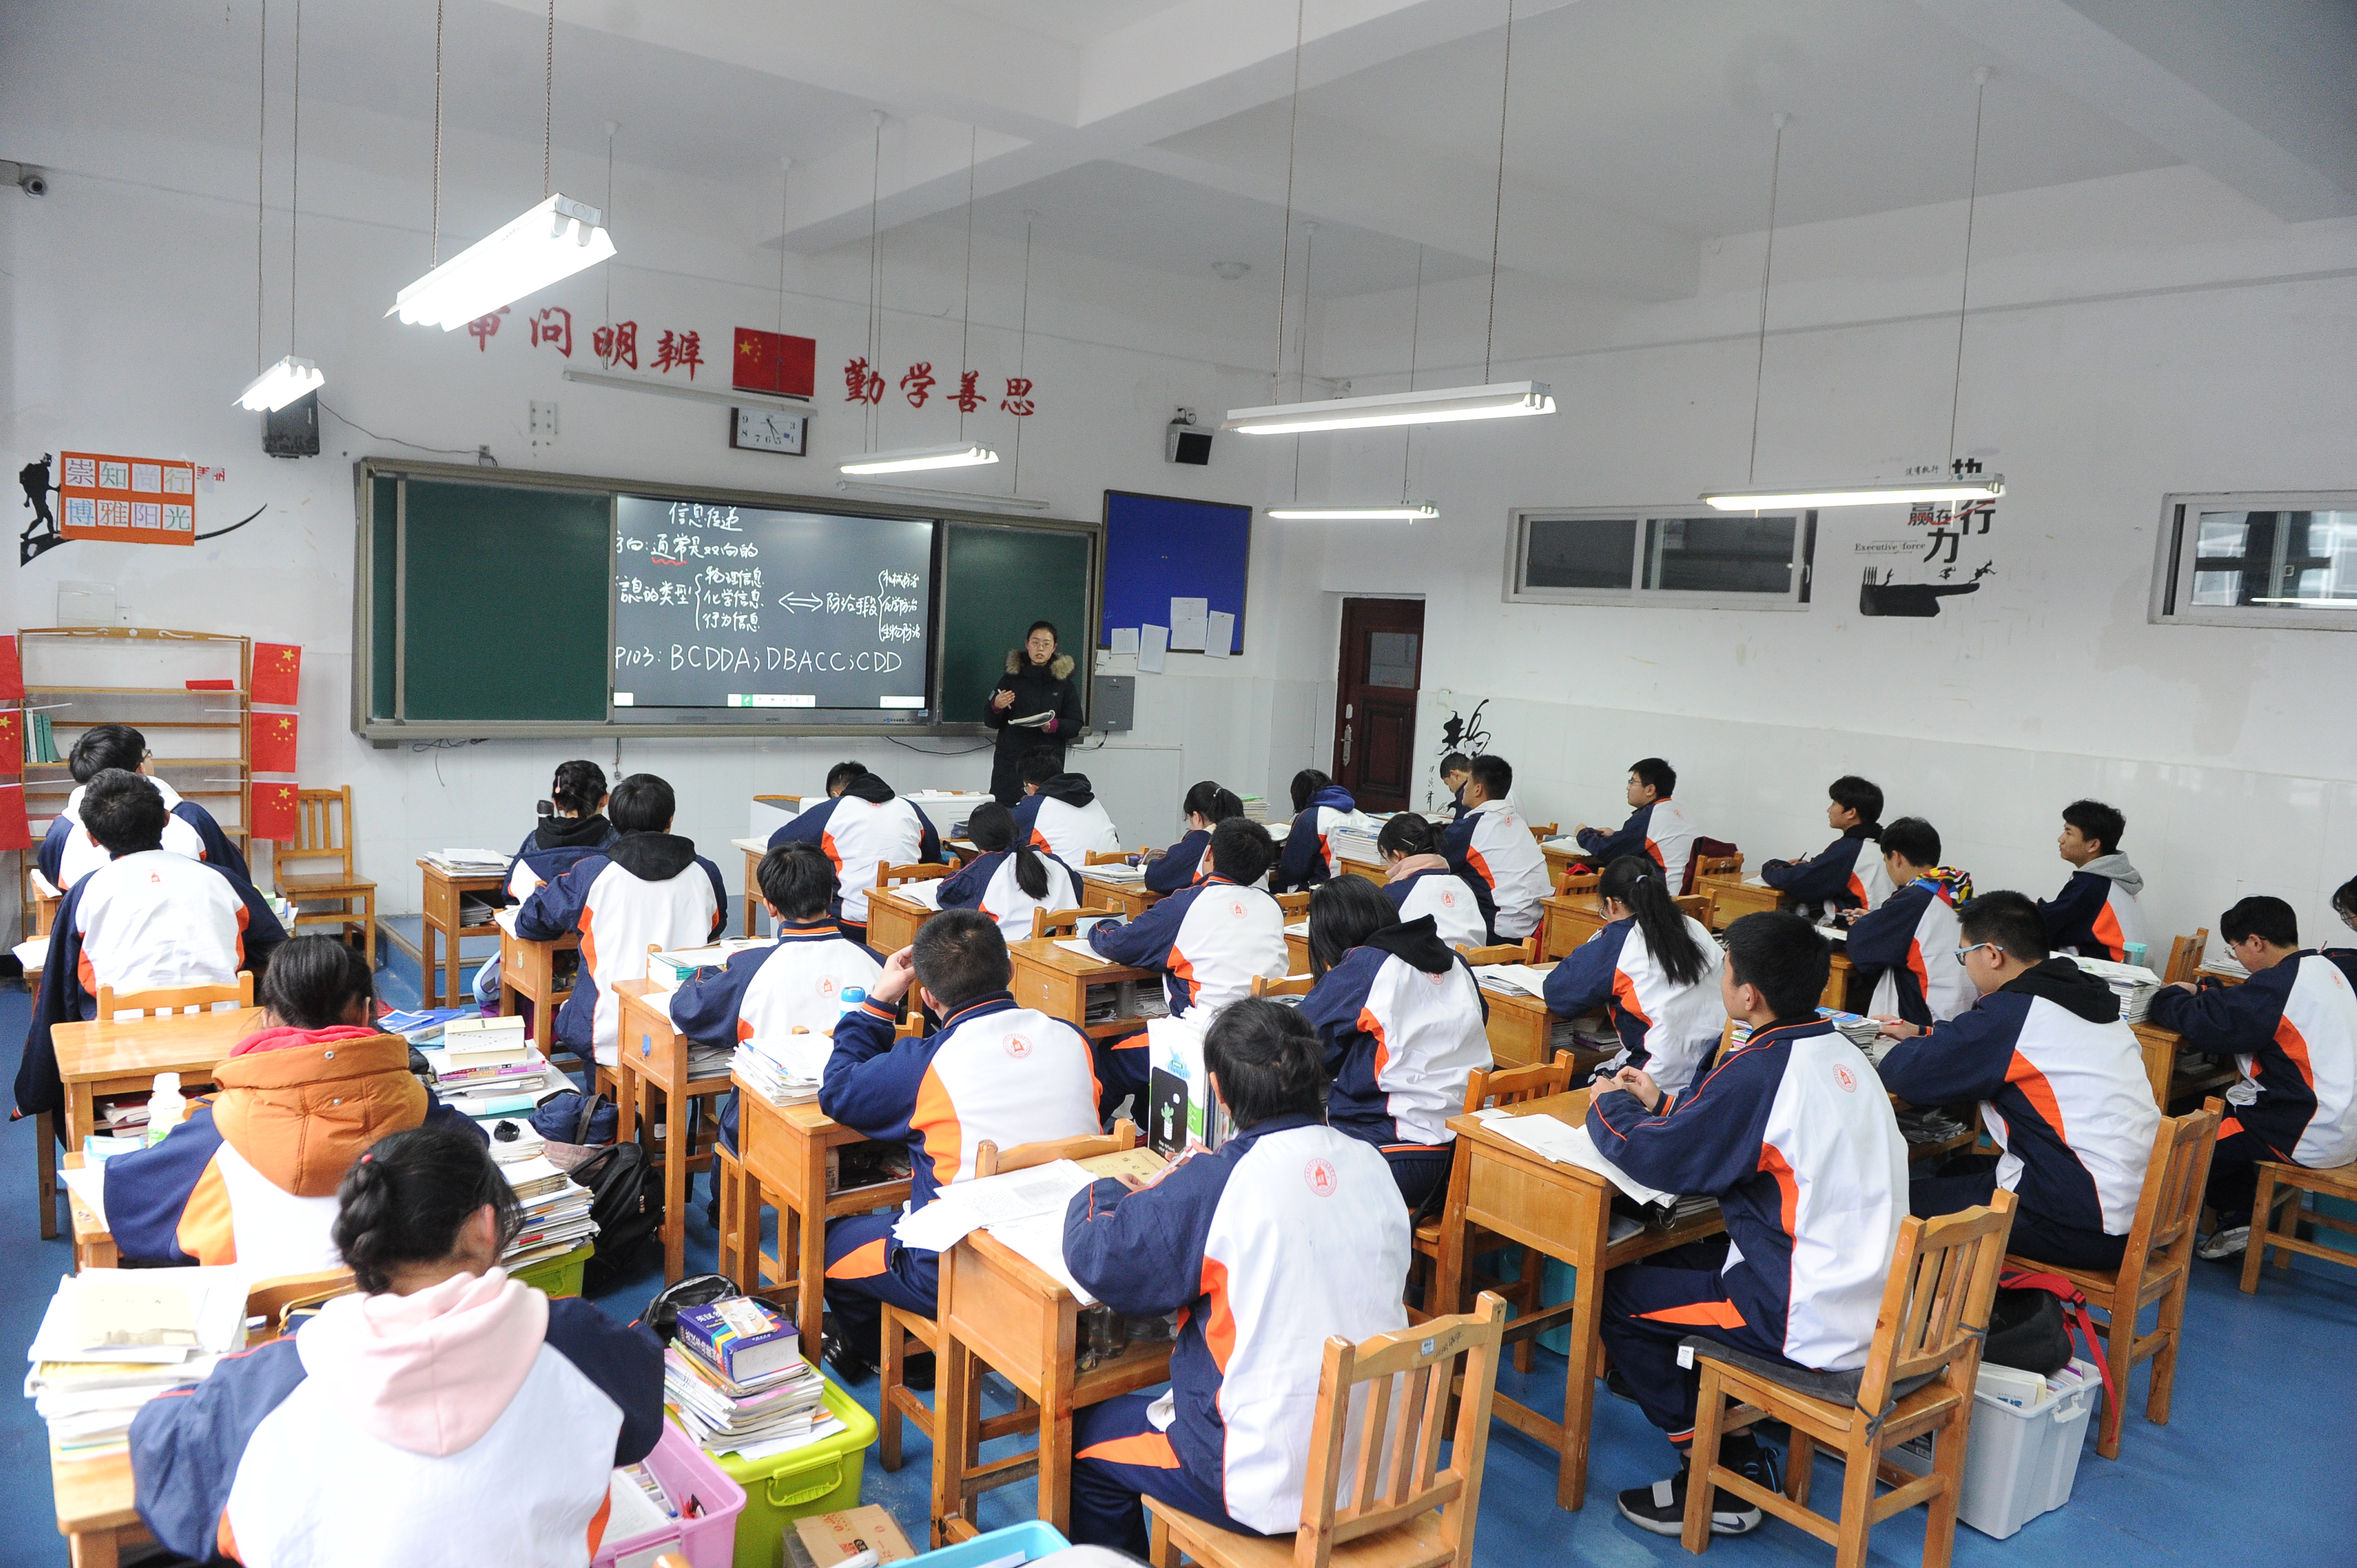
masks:
<path fill-rule="evenodd" d="M 1440 1509 L 1440 1544 L 1450 1551 L 1438 1561 L 1471 1568 L 1504 1335 L 1506 1299 L 1485 1290 L 1468 1313 L 1428 1318 L 1360 1344 L 1327 1339 L 1318 1410 L 1310 1417 L 1294 1568 L 1325 1568 L 1334 1547 L 1433 1509 Z M 1367 1391 L 1353 1422 L 1351 1405 L 1360 1384 Z M 1452 1445 L 1447 1469 L 1440 1469 L 1442 1443 Z M 1336 1502 L 1343 1464 L 1351 1476 L 1348 1507 Z"/>

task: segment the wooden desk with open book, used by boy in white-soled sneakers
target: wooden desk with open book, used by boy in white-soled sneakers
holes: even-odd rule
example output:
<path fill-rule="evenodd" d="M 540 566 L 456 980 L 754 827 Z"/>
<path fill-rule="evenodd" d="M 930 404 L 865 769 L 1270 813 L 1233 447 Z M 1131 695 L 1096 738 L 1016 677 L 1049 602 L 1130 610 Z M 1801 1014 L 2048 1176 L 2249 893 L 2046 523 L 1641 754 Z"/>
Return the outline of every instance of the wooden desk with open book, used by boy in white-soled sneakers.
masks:
<path fill-rule="evenodd" d="M 1525 1115 L 1553 1115 L 1572 1127 L 1589 1115 L 1589 1092 L 1551 1094 L 1523 1106 Z M 1466 1285 L 1466 1238 L 1483 1228 L 1506 1240 L 1537 1247 L 1570 1264 L 1577 1273 L 1572 1299 L 1532 1313 L 1506 1327 L 1508 1339 L 1527 1339 L 1570 1318 L 1572 1356 L 1563 1377 L 1563 1419 L 1551 1422 L 1537 1410 L 1497 1396 L 1497 1419 L 1546 1443 L 1563 1462 L 1556 1471 L 1556 1504 L 1577 1509 L 1589 1490 L 1589 1419 L 1596 1405 L 1596 1325 L 1603 1316 L 1605 1271 L 1640 1257 L 1716 1236 L 1725 1226 L 1718 1214 L 1692 1219 L 1673 1231 L 1638 1231 L 1610 1245 L 1612 1186 L 1577 1165 L 1556 1165 L 1487 1129 L 1471 1115 L 1452 1115 L 1457 1160 L 1450 1167 L 1450 1200 L 1440 1217 L 1440 1259 L 1433 1269 L 1438 1311 L 1461 1311 Z"/>

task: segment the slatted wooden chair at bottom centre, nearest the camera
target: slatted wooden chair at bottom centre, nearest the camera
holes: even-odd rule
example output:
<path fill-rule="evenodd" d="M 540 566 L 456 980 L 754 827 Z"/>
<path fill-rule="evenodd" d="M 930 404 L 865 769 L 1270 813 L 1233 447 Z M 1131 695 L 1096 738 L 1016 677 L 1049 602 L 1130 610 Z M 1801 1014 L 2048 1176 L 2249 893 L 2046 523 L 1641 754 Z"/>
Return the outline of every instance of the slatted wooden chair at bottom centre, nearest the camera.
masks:
<path fill-rule="evenodd" d="M 1483 1294 L 1471 1313 L 1433 1318 L 1360 1344 L 1334 1337 L 1318 1372 L 1301 1530 L 1282 1537 L 1233 1535 L 1160 1497 L 1148 1497 L 1155 1568 L 1178 1554 L 1207 1568 L 1473 1568 L 1480 1474 L 1490 1452 L 1490 1398 L 1506 1304 Z M 1367 1384 L 1358 1431 L 1353 1394 Z M 1450 1403 L 1457 1422 L 1450 1429 Z M 1398 1408 L 1393 1408 L 1398 1405 Z M 1358 1457 L 1351 1457 L 1351 1441 Z M 1440 1445 L 1450 1467 L 1440 1469 Z M 1343 1476 L 1348 1462 L 1351 1474 Z M 1351 1502 L 1343 1504 L 1343 1488 Z"/>

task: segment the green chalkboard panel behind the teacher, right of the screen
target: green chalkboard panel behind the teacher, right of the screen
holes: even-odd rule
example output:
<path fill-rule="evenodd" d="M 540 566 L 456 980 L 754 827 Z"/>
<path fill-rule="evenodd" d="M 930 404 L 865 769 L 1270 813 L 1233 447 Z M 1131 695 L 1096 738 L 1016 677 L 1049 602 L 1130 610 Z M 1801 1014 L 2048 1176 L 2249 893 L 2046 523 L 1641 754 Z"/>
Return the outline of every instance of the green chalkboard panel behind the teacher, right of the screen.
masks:
<path fill-rule="evenodd" d="M 1054 620 L 1087 689 L 1096 535 L 950 523 L 943 561 L 940 717 L 981 724 L 1006 651 L 1035 620 Z"/>

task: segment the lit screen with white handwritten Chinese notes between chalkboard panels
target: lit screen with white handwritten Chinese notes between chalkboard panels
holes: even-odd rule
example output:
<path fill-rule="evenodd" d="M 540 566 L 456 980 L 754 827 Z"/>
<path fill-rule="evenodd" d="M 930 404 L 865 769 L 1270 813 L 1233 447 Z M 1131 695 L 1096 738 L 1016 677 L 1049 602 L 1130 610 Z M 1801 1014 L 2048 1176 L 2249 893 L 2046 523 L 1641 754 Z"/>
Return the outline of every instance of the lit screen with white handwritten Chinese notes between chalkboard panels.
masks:
<path fill-rule="evenodd" d="M 933 528 L 615 498 L 613 705 L 929 722 Z"/>

